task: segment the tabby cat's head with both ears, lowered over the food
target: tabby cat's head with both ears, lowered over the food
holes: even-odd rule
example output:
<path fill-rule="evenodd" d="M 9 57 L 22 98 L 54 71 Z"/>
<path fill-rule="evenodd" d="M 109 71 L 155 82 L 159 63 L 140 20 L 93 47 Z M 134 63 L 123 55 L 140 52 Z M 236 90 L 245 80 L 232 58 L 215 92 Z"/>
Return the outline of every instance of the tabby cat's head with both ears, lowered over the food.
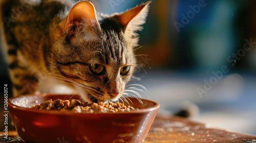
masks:
<path fill-rule="evenodd" d="M 56 78 L 84 100 L 119 99 L 136 67 L 136 31 L 142 29 L 149 4 L 110 16 L 97 16 L 88 1 L 75 4 L 55 34 L 51 68 Z"/>

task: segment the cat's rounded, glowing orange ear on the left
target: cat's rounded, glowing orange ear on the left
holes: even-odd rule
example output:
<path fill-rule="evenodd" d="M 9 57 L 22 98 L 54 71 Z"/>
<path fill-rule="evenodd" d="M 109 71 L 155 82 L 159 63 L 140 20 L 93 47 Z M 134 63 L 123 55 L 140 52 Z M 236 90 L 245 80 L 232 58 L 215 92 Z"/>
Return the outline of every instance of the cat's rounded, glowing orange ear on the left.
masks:
<path fill-rule="evenodd" d="M 72 26 L 86 25 L 88 28 L 100 30 L 100 25 L 97 20 L 96 11 L 91 2 L 81 1 L 76 3 L 70 10 L 66 22 L 63 27 L 65 33 Z"/>

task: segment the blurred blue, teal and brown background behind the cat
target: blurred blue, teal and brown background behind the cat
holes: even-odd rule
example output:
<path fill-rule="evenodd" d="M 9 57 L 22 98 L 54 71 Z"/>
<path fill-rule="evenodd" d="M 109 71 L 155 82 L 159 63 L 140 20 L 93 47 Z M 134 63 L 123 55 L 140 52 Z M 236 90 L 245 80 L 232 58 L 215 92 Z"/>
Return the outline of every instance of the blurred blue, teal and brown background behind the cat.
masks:
<path fill-rule="evenodd" d="M 146 1 L 92 2 L 112 14 Z M 194 104 L 191 120 L 256 135 L 255 7 L 253 0 L 153 0 L 131 84 L 147 88 L 142 98 L 159 102 L 161 115 Z M 3 56 L 0 68 L 10 84 Z"/>

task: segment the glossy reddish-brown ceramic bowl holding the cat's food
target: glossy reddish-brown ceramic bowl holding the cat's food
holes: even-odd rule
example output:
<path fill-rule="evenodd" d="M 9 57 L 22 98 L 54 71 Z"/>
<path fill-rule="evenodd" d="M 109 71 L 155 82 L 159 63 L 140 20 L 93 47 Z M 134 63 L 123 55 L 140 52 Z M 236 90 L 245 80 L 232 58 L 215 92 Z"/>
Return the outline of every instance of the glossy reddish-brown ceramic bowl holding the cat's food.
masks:
<path fill-rule="evenodd" d="M 18 135 L 28 142 L 143 142 L 160 105 L 129 98 L 131 112 L 73 113 L 28 109 L 35 101 L 79 99 L 74 95 L 39 94 L 9 99 L 8 107 Z M 125 103 L 127 106 L 128 104 Z"/>

